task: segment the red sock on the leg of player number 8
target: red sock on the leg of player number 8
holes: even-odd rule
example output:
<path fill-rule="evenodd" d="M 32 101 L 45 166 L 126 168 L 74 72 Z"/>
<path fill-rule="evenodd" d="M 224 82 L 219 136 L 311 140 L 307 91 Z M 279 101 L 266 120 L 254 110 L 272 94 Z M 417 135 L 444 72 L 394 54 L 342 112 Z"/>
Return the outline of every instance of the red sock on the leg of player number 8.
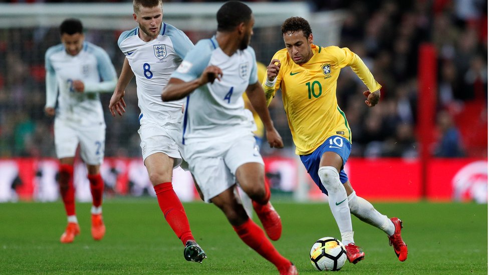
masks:
<path fill-rule="evenodd" d="M 190 225 L 188 224 L 185 209 L 173 190 L 171 182 L 164 182 L 154 186 L 156 198 L 166 221 L 173 232 L 185 245 L 185 242 L 194 239 Z"/>

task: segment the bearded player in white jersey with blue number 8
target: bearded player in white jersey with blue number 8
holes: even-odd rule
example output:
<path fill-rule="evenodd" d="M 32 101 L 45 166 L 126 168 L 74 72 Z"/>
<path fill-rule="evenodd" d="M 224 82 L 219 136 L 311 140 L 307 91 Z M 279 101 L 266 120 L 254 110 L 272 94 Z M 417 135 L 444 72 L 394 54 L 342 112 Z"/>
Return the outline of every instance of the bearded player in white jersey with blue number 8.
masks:
<path fill-rule="evenodd" d="M 121 34 L 118 45 L 126 58 L 109 109 L 122 116 L 125 112 L 125 88 L 136 76 L 139 136 L 144 165 L 154 186 L 159 207 L 177 237 L 185 246 L 186 260 L 202 262 L 207 256 L 196 243 L 187 215 L 172 186 L 173 168 L 182 163 L 183 100 L 161 102 L 161 90 L 171 73 L 193 49 L 188 37 L 163 23 L 161 0 L 134 0 L 134 20 L 138 23 Z"/>

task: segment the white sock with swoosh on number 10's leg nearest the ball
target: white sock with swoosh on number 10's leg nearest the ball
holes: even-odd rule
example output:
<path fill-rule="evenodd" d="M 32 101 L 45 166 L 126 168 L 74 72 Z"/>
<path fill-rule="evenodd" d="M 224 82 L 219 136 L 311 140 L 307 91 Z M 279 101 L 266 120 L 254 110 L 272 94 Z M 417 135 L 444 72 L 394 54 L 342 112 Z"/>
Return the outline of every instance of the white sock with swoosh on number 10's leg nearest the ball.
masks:
<path fill-rule="evenodd" d="M 341 184 L 338 170 L 332 166 L 322 166 L 318 170 L 319 178 L 328 191 L 328 201 L 331 212 L 340 229 L 344 245 L 353 241 L 353 229 L 351 224 L 350 208 L 345 187 Z"/>

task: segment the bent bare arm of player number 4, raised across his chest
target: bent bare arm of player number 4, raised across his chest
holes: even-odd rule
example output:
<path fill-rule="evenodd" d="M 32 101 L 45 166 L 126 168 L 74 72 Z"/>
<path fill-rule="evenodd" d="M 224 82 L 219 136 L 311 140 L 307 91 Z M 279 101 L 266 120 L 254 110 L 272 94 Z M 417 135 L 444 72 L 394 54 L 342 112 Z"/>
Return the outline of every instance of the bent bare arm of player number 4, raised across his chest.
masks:
<path fill-rule="evenodd" d="M 204 69 L 199 78 L 189 82 L 170 78 L 163 92 L 161 92 L 161 100 L 167 102 L 182 99 L 202 85 L 209 82 L 213 83 L 215 79 L 220 81 L 221 77 L 222 70 L 217 66 L 210 65 Z"/>

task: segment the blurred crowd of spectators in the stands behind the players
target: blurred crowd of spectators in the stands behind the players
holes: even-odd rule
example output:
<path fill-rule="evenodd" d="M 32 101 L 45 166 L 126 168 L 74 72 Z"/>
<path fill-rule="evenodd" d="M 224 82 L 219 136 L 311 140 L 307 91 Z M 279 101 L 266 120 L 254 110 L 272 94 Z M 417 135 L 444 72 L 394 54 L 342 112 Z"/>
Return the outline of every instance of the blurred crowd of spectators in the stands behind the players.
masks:
<path fill-rule="evenodd" d="M 433 129 L 436 143 L 432 154 L 487 156 L 487 1 L 416 0 L 412 4 L 402 0 L 330 0 L 313 1 L 311 9 L 346 12 L 339 46 L 359 55 L 383 86 L 380 104 L 369 109 L 363 102 L 363 83 L 350 69 L 340 75 L 338 104 L 353 132 L 352 156 L 418 155 L 417 102 L 422 95 L 417 91 L 417 68 L 421 43 L 432 43 L 438 54 L 437 127 Z M 268 41 L 270 32 L 280 34 L 280 29 L 257 30 L 252 46 Z M 117 49 L 119 35 L 117 31 L 87 30 L 86 40 L 103 47 L 120 69 L 124 56 Z M 191 33 L 188 36 L 196 42 Z M 44 115 L 44 53 L 53 45 L 48 42 L 58 38 L 57 28 L 0 30 L 0 157 L 55 156 L 53 122 Z M 283 48 L 283 42 L 274 45 L 270 53 L 257 50 L 258 60 L 268 64 L 273 52 Z M 126 102 L 134 104 L 135 84 L 131 85 L 128 90 L 134 92 L 126 97 L 134 98 Z M 108 106 L 110 95 L 101 98 Z M 286 147 L 291 148 L 287 119 L 278 100 L 272 103 L 271 114 Z M 129 105 L 123 118 L 114 119 L 105 111 L 105 155 L 140 156 L 137 105 Z M 266 147 L 262 146 L 264 155 L 280 153 Z"/>

